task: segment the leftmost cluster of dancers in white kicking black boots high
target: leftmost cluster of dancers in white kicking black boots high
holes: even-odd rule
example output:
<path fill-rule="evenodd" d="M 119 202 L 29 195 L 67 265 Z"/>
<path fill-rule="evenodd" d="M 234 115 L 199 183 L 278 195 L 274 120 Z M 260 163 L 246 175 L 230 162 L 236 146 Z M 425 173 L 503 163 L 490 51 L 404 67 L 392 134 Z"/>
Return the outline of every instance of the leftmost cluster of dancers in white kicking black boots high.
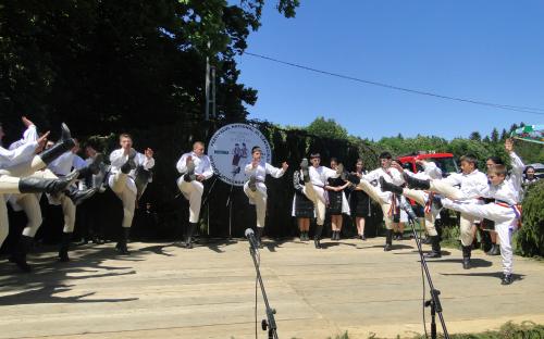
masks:
<path fill-rule="evenodd" d="M 60 204 L 64 217 L 62 241 L 59 248 L 59 260 L 70 261 L 69 250 L 74 231 L 76 206 L 102 191 L 104 177 L 112 191 L 123 203 L 123 235 L 116 249 L 127 253 L 126 239 L 132 225 L 136 203 L 136 170 L 150 170 L 154 165 L 153 151 L 146 149 L 138 153 L 132 148 L 132 138 L 121 135 L 121 148 L 110 155 L 111 166 L 106 176 L 103 155 L 87 147 L 87 160 L 76 152 L 78 142 L 72 138 L 65 124 L 61 127 L 61 138 L 57 143 L 48 141 L 49 131 L 39 136 L 36 126 L 23 117 L 26 130 L 23 138 L 10 145 L 0 147 L 0 246 L 9 233 L 9 219 L 5 202 L 13 210 L 24 211 L 27 223 L 13 249 L 10 261 L 23 272 L 29 272 L 26 255 L 34 242 L 34 237 L 42 223 L 39 205 L 41 193 L 46 193 L 49 203 Z M 0 126 L 0 137 L 3 138 Z M 73 171 L 72 171 L 73 170 Z M 79 183 L 81 185 L 75 185 Z M 90 183 L 86 186 L 85 183 Z"/>

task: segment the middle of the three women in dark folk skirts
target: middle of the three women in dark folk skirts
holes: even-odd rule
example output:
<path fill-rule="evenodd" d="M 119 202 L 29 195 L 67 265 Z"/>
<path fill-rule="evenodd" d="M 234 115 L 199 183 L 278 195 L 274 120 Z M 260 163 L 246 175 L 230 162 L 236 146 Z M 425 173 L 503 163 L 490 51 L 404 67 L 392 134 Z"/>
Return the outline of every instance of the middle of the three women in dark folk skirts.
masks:
<path fill-rule="evenodd" d="M 331 158 L 331 168 L 334 171 L 338 168 L 338 160 L 336 158 Z M 342 213 L 349 214 L 349 204 L 344 193 L 344 190 L 348 186 L 349 183 L 346 183 L 341 177 L 329 178 L 327 185 L 325 186 L 329 196 L 326 211 L 331 216 L 331 228 L 333 231 L 331 240 L 339 240 L 342 231 Z"/>

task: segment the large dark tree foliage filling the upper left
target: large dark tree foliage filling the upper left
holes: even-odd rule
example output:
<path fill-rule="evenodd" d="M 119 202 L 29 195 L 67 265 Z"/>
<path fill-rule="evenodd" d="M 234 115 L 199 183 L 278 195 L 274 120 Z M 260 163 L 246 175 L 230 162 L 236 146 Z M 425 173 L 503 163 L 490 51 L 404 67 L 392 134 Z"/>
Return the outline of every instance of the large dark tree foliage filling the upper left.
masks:
<path fill-rule="evenodd" d="M 298 0 L 275 0 L 286 17 Z M 78 135 L 202 120 L 206 58 L 220 120 L 242 121 L 257 91 L 234 56 L 264 0 L 15 1 L 0 4 L 0 118 L 29 115 Z"/>

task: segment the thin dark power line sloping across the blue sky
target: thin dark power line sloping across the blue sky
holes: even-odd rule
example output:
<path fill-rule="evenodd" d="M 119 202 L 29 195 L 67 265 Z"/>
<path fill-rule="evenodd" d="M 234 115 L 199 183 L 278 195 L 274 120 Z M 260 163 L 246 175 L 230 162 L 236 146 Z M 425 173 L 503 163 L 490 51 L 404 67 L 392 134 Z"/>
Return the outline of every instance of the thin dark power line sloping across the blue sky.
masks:
<path fill-rule="evenodd" d="M 434 97 L 434 98 L 444 99 L 444 100 L 453 100 L 453 101 L 459 101 L 459 102 L 465 102 L 465 103 L 479 104 L 479 105 L 491 106 L 491 108 L 500 109 L 500 110 L 508 110 L 508 111 L 515 111 L 515 112 L 544 115 L 544 109 L 535 109 L 535 108 L 527 108 L 527 106 L 518 106 L 518 105 L 509 105 L 509 104 L 499 104 L 499 103 L 486 102 L 486 101 L 481 101 L 481 100 L 443 96 L 443 95 L 438 95 L 438 93 L 433 93 L 433 92 L 428 92 L 428 91 L 422 91 L 422 90 L 417 90 L 417 89 L 410 89 L 410 88 L 388 85 L 388 84 L 384 84 L 384 83 L 366 80 L 366 79 L 361 79 L 361 78 L 357 78 L 357 77 L 348 76 L 348 75 L 343 75 L 343 74 L 338 74 L 338 73 L 321 71 L 321 70 L 309 67 L 309 66 L 304 66 L 304 65 L 299 65 L 299 64 L 296 64 L 293 62 L 282 61 L 282 60 L 277 60 L 274 58 L 260 55 L 260 54 L 256 54 L 256 53 L 245 52 L 245 54 L 251 55 L 255 58 L 264 59 L 264 60 L 272 61 L 275 63 L 288 65 L 288 66 L 296 67 L 296 68 L 301 68 L 301 70 L 306 70 L 306 71 L 310 71 L 310 72 L 314 72 L 314 73 L 320 73 L 320 74 L 324 74 L 324 75 L 329 75 L 329 76 L 334 76 L 334 77 L 338 77 L 338 78 L 343 78 L 343 79 L 347 79 L 347 80 L 353 80 L 353 81 L 357 81 L 357 83 L 362 83 L 362 84 L 367 84 L 367 85 L 373 85 L 373 86 L 379 86 L 379 87 L 388 88 L 388 89 L 393 89 L 393 90 L 409 92 L 412 95 L 428 96 L 428 97 Z"/>

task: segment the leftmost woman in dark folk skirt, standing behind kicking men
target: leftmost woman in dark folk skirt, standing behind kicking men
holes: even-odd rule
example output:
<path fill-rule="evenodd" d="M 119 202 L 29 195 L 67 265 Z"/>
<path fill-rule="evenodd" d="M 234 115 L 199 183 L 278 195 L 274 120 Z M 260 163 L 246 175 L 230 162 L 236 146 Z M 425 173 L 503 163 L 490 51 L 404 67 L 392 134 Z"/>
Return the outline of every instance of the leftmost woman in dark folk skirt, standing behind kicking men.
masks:
<path fill-rule="evenodd" d="M 302 171 L 295 171 L 293 175 L 293 186 L 295 187 L 295 196 L 293 197 L 292 215 L 297 218 L 298 229 L 300 229 L 300 241 L 310 240 L 310 221 L 314 217 L 313 202 L 304 193 L 305 180 Z"/>

